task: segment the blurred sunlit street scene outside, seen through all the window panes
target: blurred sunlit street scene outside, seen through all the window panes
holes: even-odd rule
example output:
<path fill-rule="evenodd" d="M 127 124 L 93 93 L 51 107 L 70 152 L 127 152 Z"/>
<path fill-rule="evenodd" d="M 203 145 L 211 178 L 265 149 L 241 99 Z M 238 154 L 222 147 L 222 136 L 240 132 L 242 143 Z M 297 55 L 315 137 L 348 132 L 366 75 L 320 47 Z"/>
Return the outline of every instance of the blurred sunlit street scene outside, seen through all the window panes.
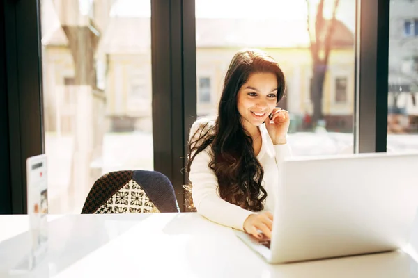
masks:
<path fill-rule="evenodd" d="M 355 0 L 196 0 L 196 108 L 215 117 L 236 51 L 287 79 L 279 106 L 302 156 L 353 152 Z M 94 181 L 153 170 L 150 0 L 42 0 L 49 212 L 79 213 Z M 222 7 L 222 8 L 220 8 Z M 418 1 L 392 0 L 388 152 L 418 150 Z M 162 81 L 164 82 L 164 81 Z"/>

